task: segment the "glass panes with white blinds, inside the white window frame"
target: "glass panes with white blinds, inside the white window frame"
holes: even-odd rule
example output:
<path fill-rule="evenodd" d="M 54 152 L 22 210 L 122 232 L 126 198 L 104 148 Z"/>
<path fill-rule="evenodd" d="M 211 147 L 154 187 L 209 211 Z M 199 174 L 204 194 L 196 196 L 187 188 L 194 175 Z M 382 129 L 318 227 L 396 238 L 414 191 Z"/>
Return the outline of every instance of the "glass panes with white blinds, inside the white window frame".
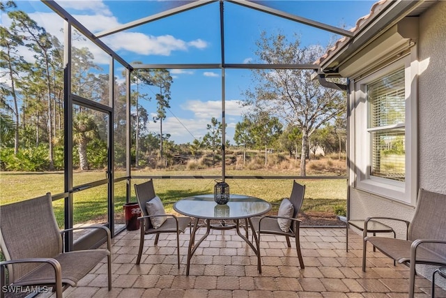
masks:
<path fill-rule="evenodd" d="M 371 137 L 370 175 L 405 180 L 406 141 L 404 69 L 367 84 Z"/>

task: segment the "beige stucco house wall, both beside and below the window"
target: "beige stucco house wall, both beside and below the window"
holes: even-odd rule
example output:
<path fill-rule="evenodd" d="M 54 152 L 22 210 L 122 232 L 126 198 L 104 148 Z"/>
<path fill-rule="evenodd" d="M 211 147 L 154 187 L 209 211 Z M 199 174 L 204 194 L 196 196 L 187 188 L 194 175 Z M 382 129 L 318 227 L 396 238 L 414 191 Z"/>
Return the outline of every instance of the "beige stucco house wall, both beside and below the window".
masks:
<path fill-rule="evenodd" d="M 438 1 L 420 16 L 417 50 L 422 70 L 418 80 L 418 186 L 446 193 L 446 1 Z M 353 124 L 350 129 L 353 131 Z M 353 135 L 350 151 L 354 153 Z M 350 177 L 353 181 L 353 172 Z M 415 207 L 410 204 L 353 187 L 350 195 L 351 219 L 390 216 L 410 221 L 413 217 Z M 399 235 L 404 231 L 402 225 L 397 228 Z"/>

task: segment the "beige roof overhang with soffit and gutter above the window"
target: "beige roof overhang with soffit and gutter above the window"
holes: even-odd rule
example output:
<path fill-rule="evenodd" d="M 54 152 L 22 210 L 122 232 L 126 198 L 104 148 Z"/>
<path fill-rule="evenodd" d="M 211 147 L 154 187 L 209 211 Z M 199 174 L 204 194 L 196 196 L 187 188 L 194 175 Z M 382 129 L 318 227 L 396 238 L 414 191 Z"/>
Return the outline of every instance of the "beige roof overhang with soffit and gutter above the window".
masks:
<path fill-rule="evenodd" d="M 413 43 L 418 35 L 417 16 L 438 0 L 384 0 L 374 4 L 369 15 L 351 29 L 353 38 L 341 38 L 323 57 L 315 61 L 318 73 L 350 77 L 367 64 L 370 57 L 396 51 Z"/>

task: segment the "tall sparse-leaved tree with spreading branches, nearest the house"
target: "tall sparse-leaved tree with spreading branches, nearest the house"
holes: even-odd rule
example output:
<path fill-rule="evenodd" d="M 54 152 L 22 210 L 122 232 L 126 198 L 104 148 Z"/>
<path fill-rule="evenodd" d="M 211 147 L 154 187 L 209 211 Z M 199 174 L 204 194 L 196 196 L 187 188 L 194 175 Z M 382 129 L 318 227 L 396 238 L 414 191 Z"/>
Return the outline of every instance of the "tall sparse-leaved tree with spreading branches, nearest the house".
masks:
<path fill-rule="evenodd" d="M 311 64 L 325 50 L 321 46 L 300 47 L 297 36 L 289 41 L 283 34 L 267 36 L 256 42 L 256 55 L 266 64 Z M 302 133 L 300 174 L 305 176 L 309 136 L 345 110 L 341 92 L 321 87 L 312 80 L 313 70 L 253 70 L 256 86 L 247 91 L 247 104 L 257 105 L 271 115 L 297 126 Z"/>

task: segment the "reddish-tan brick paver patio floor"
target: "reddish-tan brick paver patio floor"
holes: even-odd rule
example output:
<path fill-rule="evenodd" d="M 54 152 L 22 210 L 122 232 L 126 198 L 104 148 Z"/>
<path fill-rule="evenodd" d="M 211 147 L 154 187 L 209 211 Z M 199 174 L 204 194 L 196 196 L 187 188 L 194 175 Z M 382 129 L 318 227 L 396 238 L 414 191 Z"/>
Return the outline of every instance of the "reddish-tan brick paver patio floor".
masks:
<path fill-rule="evenodd" d="M 199 230 L 199 233 L 202 233 Z M 362 241 L 344 228 L 302 228 L 305 269 L 300 269 L 293 241 L 261 236 L 262 274 L 256 256 L 234 230 L 212 230 L 201 243 L 185 276 L 189 233 L 180 236 L 180 269 L 176 265 L 174 235 L 161 234 L 157 246 L 146 235 L 140 265 L 134 265 L 139 231 L 124 231 L 112 239 L 112 285 L 107 290 L 107 262 L 95 267 L 68 288 L 64 297 L 407 297 L 408 267 L 368 249 L 367 272 L 362 272 Z M 198 237 L 198 235 L 197 235 Z M 431 282 L 417 276 L 416 297 L 430 297 Z M 49 295 L 40 295 L 41 297 Z M 54 296 L 54 295 L 52 295 Z M 436 297 L 446 291 L 436 288 Z"/>

